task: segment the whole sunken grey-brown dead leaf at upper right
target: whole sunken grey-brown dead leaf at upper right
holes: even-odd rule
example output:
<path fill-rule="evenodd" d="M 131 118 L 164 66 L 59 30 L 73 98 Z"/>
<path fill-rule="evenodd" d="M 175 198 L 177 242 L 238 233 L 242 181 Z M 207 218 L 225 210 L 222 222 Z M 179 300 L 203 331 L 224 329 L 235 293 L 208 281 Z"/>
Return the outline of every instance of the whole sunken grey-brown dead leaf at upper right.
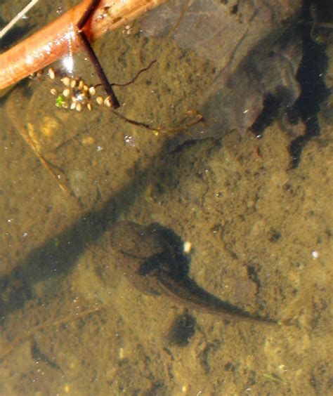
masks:
<path fill-rule="evenodd" d="M 146 36 L 169 34 L 179 47 L 210 60 L 216 70 L 211 86 L 197 98 L 205 126 L 179 134 L 174 146 L 246 131 L 267 99 L 274 98 L 277 107 L 294 103 L 300 93 L 301 1 L 192 0 L 172 30 L 186 1 L 166 3 L 143 20 Z"/>

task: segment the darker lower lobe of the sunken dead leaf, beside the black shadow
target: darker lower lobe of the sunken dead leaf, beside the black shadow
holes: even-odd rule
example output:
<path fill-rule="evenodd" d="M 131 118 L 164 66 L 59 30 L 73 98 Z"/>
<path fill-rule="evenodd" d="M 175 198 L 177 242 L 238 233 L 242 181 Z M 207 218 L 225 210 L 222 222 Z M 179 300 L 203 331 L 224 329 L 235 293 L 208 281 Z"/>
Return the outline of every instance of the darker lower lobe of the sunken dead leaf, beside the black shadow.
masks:
<path fill-rule="evenodd" d="M 195 130 L 192 136 L 218 138 L 234 130 L 242 133 L 259 120 L 266 103 L 272 103 L 275 114 L 279 107 L 291 107 L 301 93 L 296 80 L 301 48 L 300 37 L 292 41 L 280 37 L 273 46 L 254 48 L 228 79 L 221 71 L 200 105 L 208 120 L 204 133 Z"/>

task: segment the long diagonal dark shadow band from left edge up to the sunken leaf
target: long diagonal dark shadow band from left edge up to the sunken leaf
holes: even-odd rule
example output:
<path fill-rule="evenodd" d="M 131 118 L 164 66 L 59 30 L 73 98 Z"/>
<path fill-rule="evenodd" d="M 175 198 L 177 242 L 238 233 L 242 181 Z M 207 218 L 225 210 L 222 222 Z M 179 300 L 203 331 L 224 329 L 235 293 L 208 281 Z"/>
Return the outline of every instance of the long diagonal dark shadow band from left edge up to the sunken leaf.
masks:
<path fill-rule="evenodd" d="M 22 308 L 32 298 L 34 284 L 58 275 L 67 275 L 84 253 L 87 246 L 95 244 L 105 230 L 112 227 L 119 215 L 129 211 L 145 191 L 150 172 L 158 173 L 167 145 L 152 157 L 146 169 L 136 171 L 131 183 L 108 199 L 100 211 L 89 211 L 66 230 L 32 250 L 27 257 L 4 277 L 0 278 L 0 317 Z M 170 163 L 170 162 L 169 162 Z M 164 165 L 165 166 L 165 165 Z M 133 166 L 136 168 L 136 164 Z"/>

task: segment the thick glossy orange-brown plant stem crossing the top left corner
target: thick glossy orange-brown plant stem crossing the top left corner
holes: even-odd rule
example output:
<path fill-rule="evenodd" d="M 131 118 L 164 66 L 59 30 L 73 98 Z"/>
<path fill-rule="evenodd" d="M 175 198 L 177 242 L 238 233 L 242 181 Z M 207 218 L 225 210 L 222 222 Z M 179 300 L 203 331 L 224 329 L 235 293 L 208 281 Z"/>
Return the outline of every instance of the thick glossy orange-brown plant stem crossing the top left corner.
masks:
<path fill-rule="evenodd" d="M 89 41 L 126 25 L 166 0 L 100 0 L 82 29 Z M 64 55 L 82 48 L 76 26 L 91 0 L 84 0 L 57 20 L 0 54 L 0 89 L 24 79 Z"/>

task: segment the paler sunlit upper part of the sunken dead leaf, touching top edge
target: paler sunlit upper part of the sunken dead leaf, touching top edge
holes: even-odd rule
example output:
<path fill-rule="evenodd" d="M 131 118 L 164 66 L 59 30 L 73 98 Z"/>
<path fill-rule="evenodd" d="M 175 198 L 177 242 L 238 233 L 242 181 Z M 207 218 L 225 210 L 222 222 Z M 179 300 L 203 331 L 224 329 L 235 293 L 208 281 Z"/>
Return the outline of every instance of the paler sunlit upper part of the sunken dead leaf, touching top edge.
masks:
<path fill-rule="evenodd" d="M 147 37 L 171 35 L 176 44 L 195 51 L 230 74 L 256 44 L 273 43 L 299 18 L 303 1 L 175 0 L 145 15 Z M 179 18 L 181 19 L 179 20 Z M 176 26 L 176 27 L 175 27 Z"/>

